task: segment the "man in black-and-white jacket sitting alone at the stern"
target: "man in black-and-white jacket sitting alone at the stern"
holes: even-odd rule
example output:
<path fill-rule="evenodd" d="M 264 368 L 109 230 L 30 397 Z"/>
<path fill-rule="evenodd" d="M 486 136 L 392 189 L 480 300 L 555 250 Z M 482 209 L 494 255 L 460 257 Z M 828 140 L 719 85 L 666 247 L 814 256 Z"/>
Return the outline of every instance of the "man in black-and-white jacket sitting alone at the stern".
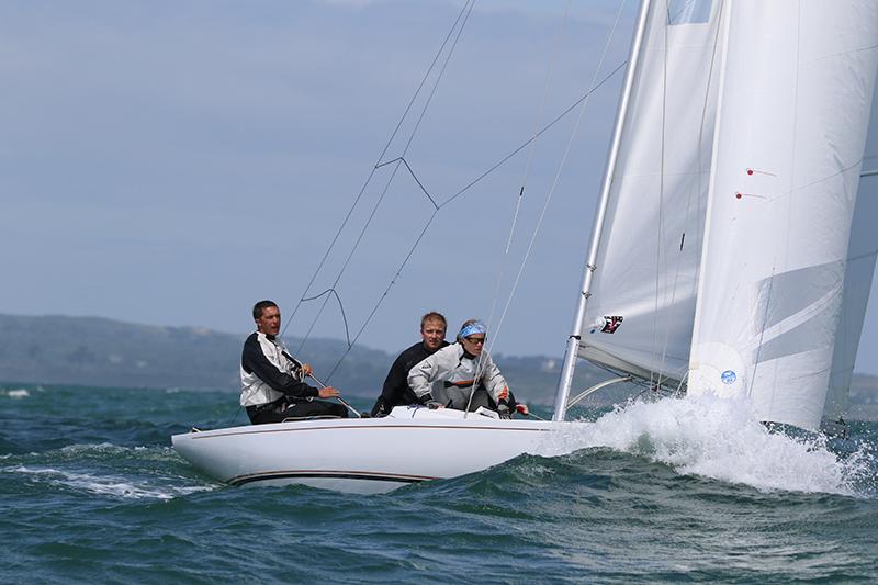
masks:
<path fill-rule="evenodd" d="M 240 358 L 240 404 L 254 425 L 280 423 L 286 418 L 314 416 L 347 417 L 340 404 L 314 398 L 339 395 L 334 387 L 316 389 L 303 382 L 311 375 L 307 363 L 299 363 L 278 337 L 281 311 L 272 301 L 254 305 L 256 331 L 244 342 Z"/>

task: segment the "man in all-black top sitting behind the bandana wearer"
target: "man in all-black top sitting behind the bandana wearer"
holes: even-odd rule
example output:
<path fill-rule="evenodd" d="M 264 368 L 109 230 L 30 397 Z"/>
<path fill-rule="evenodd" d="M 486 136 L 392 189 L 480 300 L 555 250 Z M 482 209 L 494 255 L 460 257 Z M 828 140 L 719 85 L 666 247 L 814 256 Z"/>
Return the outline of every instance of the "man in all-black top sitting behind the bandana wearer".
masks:
<path fill-rule="evenodd" d="M 408 371 L 448 345 L 446 341 L 446 318 L 435 311 L 420 319 L 420 341 L 409 347 L 396 358 L 384 380 L 381 396 L 372 407 L 372 416 L 386 416 L 394 406 L 418 404 L 418 398 L 408 387 Z"/>

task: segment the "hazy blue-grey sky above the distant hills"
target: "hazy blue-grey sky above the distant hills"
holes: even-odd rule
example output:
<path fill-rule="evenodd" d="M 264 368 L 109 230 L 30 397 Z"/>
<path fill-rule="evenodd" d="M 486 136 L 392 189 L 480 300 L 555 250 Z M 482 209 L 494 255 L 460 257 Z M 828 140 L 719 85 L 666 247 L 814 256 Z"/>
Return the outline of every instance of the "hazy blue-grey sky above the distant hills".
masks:
<path fill-rule="evenodd" d="M 624 61 L 635 4 L 477 2 L 385 150 L 463 0 L 3 2 L 0 312 L 245 336 L 272 299 L 286 335 L 314 324 L 394 352 L 436 310 L 452 330 L 491 318 L 495 352 L 560 358 L 620 74 L 443 205 L 406 257 L 431 199 Z M 374 169 L 402 155 L 414 176 Z M 319 316 L 323 297 L 300 302 L 334 285 Z M 875 305 L 857 369 L 878 373 Z"/>

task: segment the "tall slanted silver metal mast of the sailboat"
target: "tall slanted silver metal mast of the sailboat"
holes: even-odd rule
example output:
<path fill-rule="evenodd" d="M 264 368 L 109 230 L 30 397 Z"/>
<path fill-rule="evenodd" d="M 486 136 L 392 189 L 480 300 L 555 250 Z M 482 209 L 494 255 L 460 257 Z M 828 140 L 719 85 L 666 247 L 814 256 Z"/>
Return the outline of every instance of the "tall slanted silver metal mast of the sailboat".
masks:
<path fill-rule="evenodd" d="M 597 268 L 595 262 L 597 261 L 598 245 L 600 241 L 601 230 L 604 228 L 604 218 L 607 214 L 607 201 L 609 200 L 610 185 L 612 184 L 612 173 L 616 169 L 616 160 L 619 154 L 619 144 L 622 136 L 622 126 L 624 125 L 626 114 L 628 113 L 631 87 L 633 85 L 634 71 L 638 67 L 640 46 L 641 42 L 643 41 L 643 32 L 646 29 L 646 16 L 650 12 L 650 0 L 641 1 L 637 30 L 631 42 L 631 53 L 628 57 L 628 71 L 626 72 L 624 88 L 622 90 L 621 99 L 619 100 L 619 110 L 616 112 L 612 143 L 610 144 L 610 151 L 609 156 L 607 157 L 607 168 L 604 171 L 600 198 L 598 200 L 597 213 L 595 214 L 595 224 L 592 229 L 592 243 L 588 250 L 588 260 L 585 265 L 585 270 L 583 271 L 583 283 L 579 288 L 579 299 L 576 304 L 576 314 L 573 318 L 573 329 L 567 338 L 567 346 L 566 350 L 564 351 L 564 364 L 561 369 L 561 379 L 558 382 L 558 391 L 555 393 L 555 410 L 552 415 L 552 420 L 564 420 L 564 415 L 566 414 L 567 409 L 570 386 L 573 383 L 573 372 L 576 368 L 576 353 L 579 347 L 579 340 L 582 339 L 583 318 L 585 317 L 585 308 L 590 294 L 589 288 L 592 285 L 592 274 Z"/>

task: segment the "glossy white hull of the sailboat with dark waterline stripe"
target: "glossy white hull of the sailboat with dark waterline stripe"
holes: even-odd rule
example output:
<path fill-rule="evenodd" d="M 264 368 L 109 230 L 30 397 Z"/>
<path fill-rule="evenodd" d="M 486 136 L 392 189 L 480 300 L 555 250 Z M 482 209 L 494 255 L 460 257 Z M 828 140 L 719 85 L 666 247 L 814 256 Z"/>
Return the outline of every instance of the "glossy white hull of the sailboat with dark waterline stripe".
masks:
<path fill-rule="evenodd" d="M 384 418 L 234 427 L 175 435 L 172 441 L 195 468 L 232 485 L 300 483 L 374 494 L 534 453 L 562 425 L 396 407 Z"/>

